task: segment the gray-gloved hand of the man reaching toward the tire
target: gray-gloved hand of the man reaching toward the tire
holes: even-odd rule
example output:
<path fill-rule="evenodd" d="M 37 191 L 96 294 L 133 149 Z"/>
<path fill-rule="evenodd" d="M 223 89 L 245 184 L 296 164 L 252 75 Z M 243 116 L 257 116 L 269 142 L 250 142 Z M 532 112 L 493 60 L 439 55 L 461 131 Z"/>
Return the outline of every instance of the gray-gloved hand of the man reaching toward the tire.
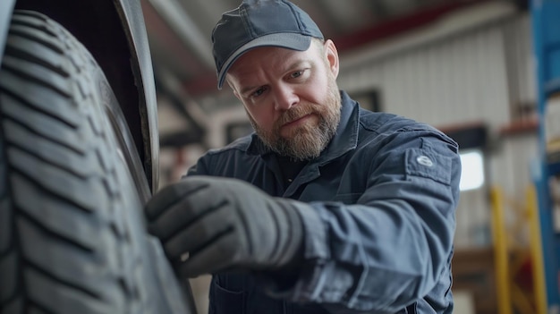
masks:
<path fill-rule="evenodd" d="M 287 265 L 303 242 L 301 206 L 307 205 L 273 198 L 247 182 L 192 176 L 157 192 L 146 215 L 167 258 L 191 277 Z"/>

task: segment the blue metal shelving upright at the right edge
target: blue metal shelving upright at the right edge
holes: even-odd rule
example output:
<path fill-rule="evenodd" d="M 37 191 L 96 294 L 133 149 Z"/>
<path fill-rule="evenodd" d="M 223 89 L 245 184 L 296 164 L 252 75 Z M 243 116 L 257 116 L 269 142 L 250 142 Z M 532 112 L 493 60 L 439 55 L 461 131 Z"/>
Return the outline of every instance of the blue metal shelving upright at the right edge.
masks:
<path fill-rule="evenodd" d="M 550 178 L 560 175 L 560 161 L 549 160 L 544 125 L 547 99 L 560 93 L 560 0 L 531 0 L 530 11 L 540 122 L 539 170 L 534 175 L 534 180 L 539 199 L 547 311 L 560 313 L 560 233 L 555 230 L 554 203 L 549 187 Z"/>

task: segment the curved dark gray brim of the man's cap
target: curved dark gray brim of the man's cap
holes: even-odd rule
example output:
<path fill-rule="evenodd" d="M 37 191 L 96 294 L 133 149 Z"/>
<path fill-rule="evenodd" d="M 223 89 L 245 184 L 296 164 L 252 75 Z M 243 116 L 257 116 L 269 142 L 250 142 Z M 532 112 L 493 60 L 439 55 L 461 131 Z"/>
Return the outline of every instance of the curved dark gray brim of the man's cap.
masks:
<path fill-rule="evenodd" d="M 283 47 L 292 50 L 305 51 L 310 48 L 311 37 L 297 33 L 276 33 L 255 38 L 235 50 L 227 60 L 217 75 L 217 89 L 222 89 L 225 81 L 225 73 L 232 64 L 244 53 L 256 47 Z"/>

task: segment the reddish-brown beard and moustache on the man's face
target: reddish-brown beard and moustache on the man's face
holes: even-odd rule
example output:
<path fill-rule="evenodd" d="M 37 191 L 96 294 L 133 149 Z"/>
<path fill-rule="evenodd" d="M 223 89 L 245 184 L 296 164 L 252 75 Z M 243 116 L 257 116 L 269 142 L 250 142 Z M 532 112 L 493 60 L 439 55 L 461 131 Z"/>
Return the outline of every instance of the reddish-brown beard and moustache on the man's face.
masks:
<path fill-rule="evenodd" d="M 329 73 L 330 74 L 330 73 Z M 250 123 L 259 139 L 276 154 L 291 157 L 295 160 L 306 160 L 319 157 L 335 136 L 340 123 L 341 98 L 335 77 L 329 75 L 327 97 L 323 104 L 300 103 L 285 111 L 274 123 L 271 131 L 263 130 L 250 116 Z M 289 123 L 304 115 L 317 115 L 318 125 L 304 123 L 284 138 L 280 130 L 284 123 Z"/>

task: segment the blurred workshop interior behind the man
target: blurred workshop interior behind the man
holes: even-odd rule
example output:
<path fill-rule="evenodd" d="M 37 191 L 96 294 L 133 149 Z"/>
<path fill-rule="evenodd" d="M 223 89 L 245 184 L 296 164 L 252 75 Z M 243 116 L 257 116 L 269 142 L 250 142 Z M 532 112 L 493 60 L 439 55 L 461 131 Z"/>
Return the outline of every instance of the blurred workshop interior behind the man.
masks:
<path fill-rule="evenodd" d="M 157 81 L 160 187 L 179 180 L 207 149 L 251 132 L 229 87 L 216 89 L 211 53 L 216 21 L 239 3 L 142 0 Z M 558 68 L 560 56 L 541 58 L 539 48 L 560 38 L 560 29 L 541 28 L 547 14 L 523 0 L 293 3 L 335 41 L 339 87 L 361 106 L 432 124 L 459 142 L 454 312 L 559 313 L 560 254 L 550 242 L 560 230 L 553 167 L 560 98 L 546 81 L 551 75 L 537 70 Z M 552 199 L 544 209 L 543 197 Z M 206 312 L 208 277 L 192 285 Z"/>

